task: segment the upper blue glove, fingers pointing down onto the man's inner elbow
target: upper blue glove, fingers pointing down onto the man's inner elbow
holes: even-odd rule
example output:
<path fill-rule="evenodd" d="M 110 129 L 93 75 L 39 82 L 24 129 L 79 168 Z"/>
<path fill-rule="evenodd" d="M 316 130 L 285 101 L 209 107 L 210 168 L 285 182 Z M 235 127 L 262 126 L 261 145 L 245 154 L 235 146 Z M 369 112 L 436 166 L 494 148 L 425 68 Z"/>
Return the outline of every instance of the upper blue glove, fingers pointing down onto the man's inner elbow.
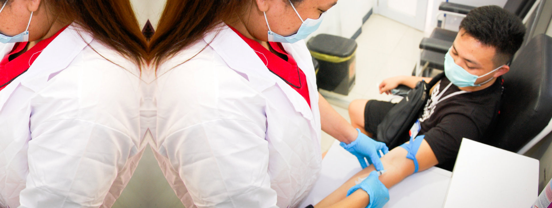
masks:
<path fill-rule="evenodd" d="M 363 169 L 368 167 L 364 161 L 364 158 L 367 158 L 368 165 L 374 164 L 376 170 L 383 170 L 383 164 L 381 164 L 379 159 L 382 155 L 380 155 L 378 150 L 381 150 L 384 154 L 387 154 L 389 152 L 389 148 L 385 145 L 385 143 L 375 141 L 365 134 L 362 134 L 360 129 L 357 129 L 357 131 L 358 136 L 356 140 L 348 145 L 344 142 L 339 143 L 339 145 L 345 148 L 345 150 L 351 152 L 351 154 L 354 154 L 354 156 L 357 156 L 358 162 L 360 162 L 360 166 Z"/>

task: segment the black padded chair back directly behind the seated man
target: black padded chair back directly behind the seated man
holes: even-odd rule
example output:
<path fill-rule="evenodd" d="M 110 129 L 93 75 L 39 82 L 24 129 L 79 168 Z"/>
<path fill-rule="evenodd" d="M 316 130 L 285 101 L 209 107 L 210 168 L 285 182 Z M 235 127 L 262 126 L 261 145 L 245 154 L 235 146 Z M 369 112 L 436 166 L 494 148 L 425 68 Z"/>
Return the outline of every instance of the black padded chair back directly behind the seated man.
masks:
<path fill-rule="evenodd" d="M 523 154 L 552 130 L 552 38 L 530 40 L 503 78 L 500 115 L 486 143 Z"/>

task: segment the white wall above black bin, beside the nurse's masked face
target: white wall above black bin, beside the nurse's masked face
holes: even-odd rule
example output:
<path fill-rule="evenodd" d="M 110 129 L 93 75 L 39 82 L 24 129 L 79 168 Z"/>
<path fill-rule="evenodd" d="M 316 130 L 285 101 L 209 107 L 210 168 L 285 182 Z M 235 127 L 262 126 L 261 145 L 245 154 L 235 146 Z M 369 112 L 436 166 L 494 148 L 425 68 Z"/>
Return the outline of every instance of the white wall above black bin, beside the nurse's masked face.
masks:
<path fill-rule="evenodd" d="M 351 38 L 362 26 L 362 18 L 372 6 L 371 0 L 339 0 L 336 6 L 327 11 L 320 28 L 309 38 L 321 33 Z"/>

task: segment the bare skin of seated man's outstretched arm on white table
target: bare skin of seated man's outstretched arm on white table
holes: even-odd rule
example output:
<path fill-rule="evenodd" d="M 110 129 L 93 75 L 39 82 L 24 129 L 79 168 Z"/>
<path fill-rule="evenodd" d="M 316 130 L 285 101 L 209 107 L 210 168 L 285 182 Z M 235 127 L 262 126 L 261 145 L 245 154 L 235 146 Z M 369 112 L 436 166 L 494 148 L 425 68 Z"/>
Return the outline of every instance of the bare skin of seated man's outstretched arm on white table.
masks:
<path fill-rule="evenodd" d="M 408 177 L 414 173 L 414 162 L 412 159 L 406 158 L 408 152 L 402 147 L 396 147 L 381 157 L 381 162 L 386 170 L 379 179 L 387 188 L 401 182 L 402 179 Z M 416 154 L 418 161 L 418 172 L 436 166 L 438 164 L 435 154 L 429 147 L 426 140 L 423 140 L 418 152 Z M 316 204 L 316 208 L 325 207 L 365 207 L 367 202 L 366 193 L 362 190 L 355 191 L 355 194 L 349 195 L 346 199 L 347 191 L 355 185 L 355 180 L 358 178 L 367 177 L 368 174 L 374 169 L 373 165 L 360 170 L 357 174 L 353 175 L 347 182 L 341 185 L 337 190 L 333 191 L 330 195 L 326 196 L 322 201 Z M 359 191 L 364 193 L 356 194 Z M 364 206 L 360 202 L 364 202 Z"/>

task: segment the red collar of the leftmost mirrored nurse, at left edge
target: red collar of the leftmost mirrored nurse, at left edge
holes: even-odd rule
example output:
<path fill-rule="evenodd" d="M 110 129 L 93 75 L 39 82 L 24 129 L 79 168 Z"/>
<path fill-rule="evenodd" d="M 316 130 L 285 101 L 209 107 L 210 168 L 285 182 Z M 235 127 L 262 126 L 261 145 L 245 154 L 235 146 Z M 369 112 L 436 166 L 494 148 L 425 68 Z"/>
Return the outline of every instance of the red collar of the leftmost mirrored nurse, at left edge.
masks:
<path fill-rule="evenodd" d="M 25 73 L 29 67 L 33 65 L 33 62 L 40 55 L 40 52 L 42 52 L 46 46 L 48 46 L 48 44 L 50 44 L 50 42 L 57 37 L 57 35 L 65 30 L 67 26 L 61 28 L 61 30 L 57 31 L 57 33 L 52 35 L 50 38 L 41 40 L 31 49 L 25 51 L 18 57 L 10 58 L 13 54 L 17 54 L 18 52 L 24 50 L 27 44 L 29 44 L 29 42 L 15 43 L 12 51 L 10 51 L 9 54 L 4 56 L 2 61 L 0 61 L 0 90 L 4 89 L 4 87 L 13 81 L 13 79 Z"/>

